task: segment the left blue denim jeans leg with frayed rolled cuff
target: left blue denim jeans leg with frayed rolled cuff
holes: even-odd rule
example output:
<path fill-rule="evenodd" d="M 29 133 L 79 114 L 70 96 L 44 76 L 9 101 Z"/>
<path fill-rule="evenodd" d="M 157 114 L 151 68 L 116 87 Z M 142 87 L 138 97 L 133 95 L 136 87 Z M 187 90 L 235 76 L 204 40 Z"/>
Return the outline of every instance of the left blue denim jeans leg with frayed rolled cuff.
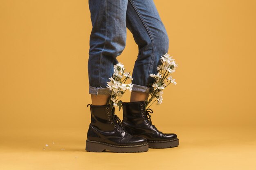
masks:
<path fill-rule="evenodd" d="M 126 45 L 128 0 L 89 0 L 92 31 L 88 60 L 89 94 L 110 94 L 106 88 Z"/>

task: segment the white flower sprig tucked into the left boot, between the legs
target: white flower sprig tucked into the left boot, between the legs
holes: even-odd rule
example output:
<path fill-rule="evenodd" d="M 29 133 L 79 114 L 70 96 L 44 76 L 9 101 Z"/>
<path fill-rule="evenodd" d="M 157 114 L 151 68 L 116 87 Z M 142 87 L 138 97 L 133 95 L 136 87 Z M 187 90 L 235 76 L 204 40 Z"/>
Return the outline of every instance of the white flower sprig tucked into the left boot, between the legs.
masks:
<path fill-rule="evenodd" d="M 108 99 L 108 104 L 110 104 L 111 111 L 115 107 L 118 107 L 120 111 L 121 107 L 123 106 L 123 102 L 119 99 L 124 95 L 127 90 L 130 92 L 132 91 L 133 84 L 125 84 L 127 79 L 132 80 L 132 76 L 130 75 L 130 72 L 124 71 L 124 64 L 119 62 L 114 65 L 114 73 L 112 74 L 112 77 L 108 78 L 110 79 L 110 82 L 107 82 L 107 88 L 109 88 L 111 91 L 110 98 Z"/>

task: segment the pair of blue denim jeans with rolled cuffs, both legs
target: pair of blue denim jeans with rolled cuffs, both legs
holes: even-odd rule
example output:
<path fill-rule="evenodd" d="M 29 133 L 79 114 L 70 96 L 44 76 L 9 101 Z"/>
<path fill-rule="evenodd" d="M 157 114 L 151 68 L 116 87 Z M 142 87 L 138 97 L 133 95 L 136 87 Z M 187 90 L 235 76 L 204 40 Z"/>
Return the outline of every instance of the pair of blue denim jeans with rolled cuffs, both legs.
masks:
<path fill-rule="evenodd" d="M 106 88 L 113 65 L 126 46 L 126 28 L 138 45 L 132 91 L 152 92 L 160 57 L 169 39 L 153 0 L 89 0 L 92 31 L 88 60 L 89 94 L 110 94 Z"/>

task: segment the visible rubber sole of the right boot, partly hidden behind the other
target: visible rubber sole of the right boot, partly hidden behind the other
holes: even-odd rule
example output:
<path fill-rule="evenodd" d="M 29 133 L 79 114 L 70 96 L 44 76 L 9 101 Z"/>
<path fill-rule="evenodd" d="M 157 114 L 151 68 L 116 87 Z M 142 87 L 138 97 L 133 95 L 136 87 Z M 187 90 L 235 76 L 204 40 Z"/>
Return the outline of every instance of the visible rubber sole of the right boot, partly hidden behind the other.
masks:
<path fill-rule="evenodd" d="M 179 139 L 171 139 L 166 141 L 147 141 L 148 148 L 161 149 L 161 148 L 173 148 L 179 145 Z"/>

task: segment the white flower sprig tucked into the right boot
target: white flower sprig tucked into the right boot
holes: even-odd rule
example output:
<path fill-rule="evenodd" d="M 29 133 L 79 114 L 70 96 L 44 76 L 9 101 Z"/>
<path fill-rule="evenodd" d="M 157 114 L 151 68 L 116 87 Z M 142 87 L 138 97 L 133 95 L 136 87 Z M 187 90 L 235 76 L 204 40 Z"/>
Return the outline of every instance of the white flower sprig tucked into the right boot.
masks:
<path fill-rule="evenodd" d="M 160 58 L 161 65 L 157 66 L 157 74 L 150 74 L 150 77 L 155 78 L 155 82 L 151 85 L 153 87 L 153 92 L 148 95 L 145 100 L 145 108 L 146 110 L 154 103 L 162 104 L 163 101 L 163 90 L 166 88 L 170 83 L 177 84 L 175 79 L 173 79 L 171 73 L 176 71 L 177 64 L 175 60 L 169 54 L 164 54 Z M 153 101 L 154 100 L 154 101 Z M 152 102 L 153 101 L 153 102 Z M 151 103 L 152 102 L 152 103 Z M 151 104 L 150 104 L 151 103 Z M 149 105 L 150 104 L 150 105 Z"/>

